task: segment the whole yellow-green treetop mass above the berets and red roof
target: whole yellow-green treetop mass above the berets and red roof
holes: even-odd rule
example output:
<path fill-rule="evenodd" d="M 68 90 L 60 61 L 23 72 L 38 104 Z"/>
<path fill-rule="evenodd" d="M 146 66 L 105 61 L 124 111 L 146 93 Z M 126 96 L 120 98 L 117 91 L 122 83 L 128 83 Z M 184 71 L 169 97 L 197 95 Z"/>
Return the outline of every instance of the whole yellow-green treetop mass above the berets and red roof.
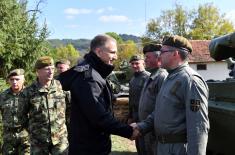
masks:
<path fill-rule="evenodd" d="M 210 40 L 231 32 L 234 32 L 232 23 L 225 19 L 212 3 L 200 5 L 197 10 L 189 11 L 176 4 L 174 9 L 164 10 L 159 17 L 150 20 L 142 42 L 158 42 L 167 34 Z"/>

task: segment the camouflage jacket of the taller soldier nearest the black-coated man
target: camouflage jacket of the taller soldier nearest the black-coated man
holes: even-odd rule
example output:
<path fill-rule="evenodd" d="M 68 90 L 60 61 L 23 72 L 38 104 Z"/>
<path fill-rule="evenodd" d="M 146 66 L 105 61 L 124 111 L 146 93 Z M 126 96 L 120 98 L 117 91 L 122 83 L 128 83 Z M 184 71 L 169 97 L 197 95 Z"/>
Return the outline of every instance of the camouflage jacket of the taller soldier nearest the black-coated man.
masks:
<path fill-rule="evenodd" d="M 49 88 L 38 82 L 25 89 L 28 104 L 22 107 L 22 117 L 27 117 L 30 141 L 35 145 L 58 144 L 67 139 L 65 125 L 65 95 L 60 82 L 52 80 Z"/>

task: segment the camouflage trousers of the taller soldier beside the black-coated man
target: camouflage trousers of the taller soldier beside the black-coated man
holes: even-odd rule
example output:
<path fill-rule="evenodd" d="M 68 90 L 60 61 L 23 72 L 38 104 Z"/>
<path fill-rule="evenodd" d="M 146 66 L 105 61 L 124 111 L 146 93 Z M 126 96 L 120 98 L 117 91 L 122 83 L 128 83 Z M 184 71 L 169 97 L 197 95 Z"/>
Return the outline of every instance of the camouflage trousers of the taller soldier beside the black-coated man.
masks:
<path fill-rule="evenodd" d="M 30 155 L 67 155 L 68 140 L 62 140 L 60 143 L 53 145 L 51 142 L 44 144 L 31 144 Z"/>

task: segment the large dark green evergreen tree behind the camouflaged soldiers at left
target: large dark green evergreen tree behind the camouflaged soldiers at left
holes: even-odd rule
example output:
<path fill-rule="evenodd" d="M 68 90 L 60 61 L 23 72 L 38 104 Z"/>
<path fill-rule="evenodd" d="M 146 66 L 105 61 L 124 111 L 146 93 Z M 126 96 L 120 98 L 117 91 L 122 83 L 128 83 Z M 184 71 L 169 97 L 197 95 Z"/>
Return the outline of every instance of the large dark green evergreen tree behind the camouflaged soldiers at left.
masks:
<path fill-rule="evenodd" d="M 6 77 L 11 69 L 24 68 L 32 78 L 35 60 L 49 52 L 46 24 L 40 28 L 36 22 L 40 3 L 35 10 L 27 11 L 27 1 L 1 0 L 0 77 Z"/>

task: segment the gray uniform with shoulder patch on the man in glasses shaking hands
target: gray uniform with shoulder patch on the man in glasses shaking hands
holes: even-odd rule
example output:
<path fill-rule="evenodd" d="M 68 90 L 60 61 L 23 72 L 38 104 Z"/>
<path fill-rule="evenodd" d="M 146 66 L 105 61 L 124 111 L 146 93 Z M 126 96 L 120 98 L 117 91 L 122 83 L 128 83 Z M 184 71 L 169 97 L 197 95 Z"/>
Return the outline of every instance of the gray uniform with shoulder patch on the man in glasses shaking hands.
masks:
<path fill-rule="evenodd" d="M 155 111 L 138 123 L 142 132 L 153 125 L 158 155 L 206 154 L 208 87 L 187 63 L 171 71 L 158 94 Z"/>

